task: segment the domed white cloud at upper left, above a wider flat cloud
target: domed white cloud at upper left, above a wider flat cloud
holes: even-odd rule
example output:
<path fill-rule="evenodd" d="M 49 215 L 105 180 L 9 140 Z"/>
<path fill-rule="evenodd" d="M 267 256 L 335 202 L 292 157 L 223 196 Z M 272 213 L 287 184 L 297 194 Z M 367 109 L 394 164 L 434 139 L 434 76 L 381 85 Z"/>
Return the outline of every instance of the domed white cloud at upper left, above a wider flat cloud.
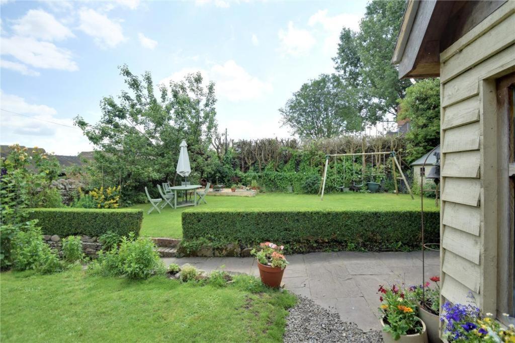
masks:
<path fill-rule="evenodd" d="M 75 37 L 70 29 L 58 22 L 52 14 L 43 10 L 29 10 L 25 16 L 15 20 L 14 23 L 12 29 L 18 36 L 46 41 L 61 41 Z"/>

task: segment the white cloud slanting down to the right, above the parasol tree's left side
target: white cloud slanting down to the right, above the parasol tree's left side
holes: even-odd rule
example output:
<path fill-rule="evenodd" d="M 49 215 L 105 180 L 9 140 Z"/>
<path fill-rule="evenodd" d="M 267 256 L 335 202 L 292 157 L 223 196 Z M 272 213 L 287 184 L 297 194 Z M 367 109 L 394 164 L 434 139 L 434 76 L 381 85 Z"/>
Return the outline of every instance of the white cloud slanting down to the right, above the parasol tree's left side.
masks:
<path fill-rule="evenodd" d="M 82 8 L 79 16 L 79 29 L 93 37 L 95 43 L 100 47 L 115 47 L 126 40 L 122 26 L 111 21 L 106 15 L 91 8 Z"/>

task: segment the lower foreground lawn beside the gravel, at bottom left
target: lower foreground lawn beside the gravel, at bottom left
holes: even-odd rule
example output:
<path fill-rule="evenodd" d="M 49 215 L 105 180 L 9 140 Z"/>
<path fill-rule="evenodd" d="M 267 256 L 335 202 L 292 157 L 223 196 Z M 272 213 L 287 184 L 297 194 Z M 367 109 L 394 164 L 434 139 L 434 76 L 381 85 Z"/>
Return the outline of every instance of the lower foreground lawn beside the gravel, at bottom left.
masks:
<path fill-rule="evenodd" d="M 86 276 L 80 267 L 1 275 L 2 342 L 282 341 L 295 297 L 166 278 Z"/>

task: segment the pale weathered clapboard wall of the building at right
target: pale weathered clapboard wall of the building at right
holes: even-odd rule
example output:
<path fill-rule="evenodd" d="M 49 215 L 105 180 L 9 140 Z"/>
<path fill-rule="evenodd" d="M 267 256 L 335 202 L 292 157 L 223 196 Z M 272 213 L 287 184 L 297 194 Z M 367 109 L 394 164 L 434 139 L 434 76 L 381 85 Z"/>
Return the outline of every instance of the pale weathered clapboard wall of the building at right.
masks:
<path fill-rule="evenodd" d="M 440 55 L 441 295 L 469 303 L 471 293 L 484 312 L 492 313 L 496 136 L 488 78 L 515 65 L 514 12 L 515 2 L 505 3 Z"/>

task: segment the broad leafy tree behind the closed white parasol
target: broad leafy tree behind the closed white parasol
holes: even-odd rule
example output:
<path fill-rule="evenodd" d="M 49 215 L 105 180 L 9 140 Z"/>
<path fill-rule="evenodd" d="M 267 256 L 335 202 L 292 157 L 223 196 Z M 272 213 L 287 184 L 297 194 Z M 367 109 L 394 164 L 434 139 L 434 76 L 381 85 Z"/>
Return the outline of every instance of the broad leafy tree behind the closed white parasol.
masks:
<path fill-rule="evenodd" d="M 159 97 L 149 72 L 141 78 L 127 65 L 119 67 L 131 94 L 122 91 L 100 101 L 102 117 L 90 125 L 80 116 L 75 124 L 96 148 L 96 168 L 107 185 L 122 183 L 122 199 L 141 194 L 145 185 L 176 176 L 179 144 L 188 144 L 192 173 L 202 173 L 202 158 L 216 130 L 214 83 L 202 85 L 200 73 L 169 87 L 159 85 Z"/>

